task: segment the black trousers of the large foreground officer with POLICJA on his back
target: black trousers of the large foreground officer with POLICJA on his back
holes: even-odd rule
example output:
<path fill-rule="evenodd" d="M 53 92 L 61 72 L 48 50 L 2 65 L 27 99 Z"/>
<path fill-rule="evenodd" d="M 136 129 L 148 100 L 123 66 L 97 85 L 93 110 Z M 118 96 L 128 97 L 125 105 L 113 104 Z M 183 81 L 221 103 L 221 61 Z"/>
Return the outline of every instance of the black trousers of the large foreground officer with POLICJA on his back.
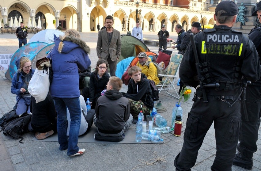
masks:
<path fill-rule="evenodd" d="M 240 120 L 240 101 L 229 107 L 221 100 L 204 103 L 203 99 L 197 99 L 187 118 L 182 150 L 174 160 L 176 170 L 187 171 L 195 165 L 198 150 L 214 121 L 217 151 L 211 170 L 230 171 L 239 139 Z"/>

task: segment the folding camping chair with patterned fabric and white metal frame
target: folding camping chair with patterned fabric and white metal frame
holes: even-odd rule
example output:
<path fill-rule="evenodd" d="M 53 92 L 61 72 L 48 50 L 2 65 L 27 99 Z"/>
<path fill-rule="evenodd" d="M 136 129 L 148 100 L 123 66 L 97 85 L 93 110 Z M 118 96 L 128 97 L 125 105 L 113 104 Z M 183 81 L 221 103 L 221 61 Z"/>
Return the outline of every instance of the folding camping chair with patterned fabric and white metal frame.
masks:
<path fill-rule="evenodd" d="M 176 73 L 180 66 L 182 57 L 183 56 L 180 54 L 174 54 L 174 53 L 171 54 L 168 67 L 164 70 L 164 74 L 158 75 L 163 77 L 160 84 L 156 85 L 156 87 L 159 89 L 159 93 L 161 93 L 161 90 L 165 90 L 166 93 L 168 93 L 172 97 L 175 97 L 177 99 L 180 98 L 180 94 L 175 89 L 174 82 L 175 82 L 175 78 L 177 77 Z M 174 95 L 167 91 L 171 89 L 174 89 Z"/>

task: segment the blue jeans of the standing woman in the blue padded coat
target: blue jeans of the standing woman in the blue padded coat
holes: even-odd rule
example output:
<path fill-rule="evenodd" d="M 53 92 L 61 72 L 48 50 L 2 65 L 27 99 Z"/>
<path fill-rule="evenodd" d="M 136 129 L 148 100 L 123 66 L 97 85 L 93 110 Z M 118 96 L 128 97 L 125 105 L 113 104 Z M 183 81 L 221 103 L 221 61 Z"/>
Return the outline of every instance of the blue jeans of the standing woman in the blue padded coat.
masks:
<path fill-rule="evenodd" d="M 53 97 L 55 109 L 57 111 L 57 132 L 59 150 L 67 150 L 67 155 L 78 153 L 78 134 L 81 126 L 81 107 L 79 97 L 77 98 L 57 98 Z M 69 109 L 71 124 L 69 138 L 66 135 L 68 121 L 66 107 Z"/>

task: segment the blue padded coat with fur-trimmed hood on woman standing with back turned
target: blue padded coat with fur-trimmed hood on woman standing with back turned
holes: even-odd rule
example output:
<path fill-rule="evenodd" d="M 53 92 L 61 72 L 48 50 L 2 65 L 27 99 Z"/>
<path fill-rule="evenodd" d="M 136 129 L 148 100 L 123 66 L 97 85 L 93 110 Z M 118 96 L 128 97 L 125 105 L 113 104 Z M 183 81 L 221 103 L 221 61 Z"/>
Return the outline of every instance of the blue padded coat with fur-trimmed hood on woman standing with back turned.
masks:
<path fill-rule="evenodd" d="M 53 70 L 50 94 L 58 98 L 80 97 L 78 70 L 86 70 L 91 65 L 90 48 L 83 40 L 69 35 L 62 41 L 63 48 L 59 53 L 61 39 L 62 36 L 54 40 L 55 47 L 47 55 Z"/>

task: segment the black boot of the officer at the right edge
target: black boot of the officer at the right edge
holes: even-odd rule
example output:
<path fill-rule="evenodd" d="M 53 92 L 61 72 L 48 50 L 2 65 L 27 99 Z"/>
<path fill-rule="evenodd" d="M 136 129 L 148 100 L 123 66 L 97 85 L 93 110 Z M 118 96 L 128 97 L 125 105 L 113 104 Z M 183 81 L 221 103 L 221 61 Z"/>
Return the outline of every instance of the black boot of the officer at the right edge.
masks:
<path fill-rule="evenodd" d="M 245 157 L 242 155 L 240 152 L 236 154 L 234 160 L 233 160 L 233 165 L 242 167 L 244 169 L 251 170 L 253 167 L 253 159 Z"/>

